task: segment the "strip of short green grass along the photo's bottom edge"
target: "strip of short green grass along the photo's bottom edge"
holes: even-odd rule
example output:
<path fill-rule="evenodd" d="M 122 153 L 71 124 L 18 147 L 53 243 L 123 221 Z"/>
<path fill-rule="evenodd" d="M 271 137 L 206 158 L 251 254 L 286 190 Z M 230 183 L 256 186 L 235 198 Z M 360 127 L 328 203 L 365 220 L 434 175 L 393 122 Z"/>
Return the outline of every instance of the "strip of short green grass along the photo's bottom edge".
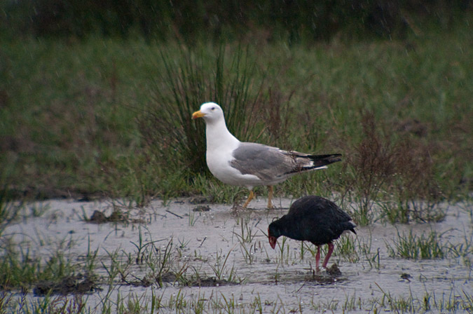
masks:
<path fill-rule="evenodd" d="M 446 294 L 425 293 L 423 296 L 392 296 L 387 288 L 379 287 L 382 296 L 372 299 L 359 299 L 357 294 L 347 294 L 345 300 L 334 297 L 332 300 L 317 298 L 309 302 L 302 302 L 299 308 L 287 308 L 282 301 L 261 299 L 257 294 L 248 304 L 238 304 L 235 296 L 217 294 L 210 298 L 203 293 L 188 296 L 183 290 L 169 300 L 163 300 L 163 295 L 153 289 L 151 298 L 140 298 L 134 294 L 118 296 L 117 299 L 104 300 L 102 311 L 87 307 L 85 297 L 65 296 L 46 297 L 42 300 L 27 299 L 27 292 L 22 292 L 21 303 L 8 299 L 0 294 L 0 306 L 10 306 L 6 310 L 16 310 L 15 313 L 156 313 L 156 310 L 175 311 L 176 313 L 295 313 L 303 309 L 323 312 L 357 311 L 360 309 L 373 313 L 392 311 L 395 313 L 430 313 L 432 310 L 448 313 L 464 313 L 473 309 L 472 298 L 467 292 L 453 296 Z M 237 305 L 238 304 L 238 305 Z M 2 308 L 0 307 L 0 310 Z"/>

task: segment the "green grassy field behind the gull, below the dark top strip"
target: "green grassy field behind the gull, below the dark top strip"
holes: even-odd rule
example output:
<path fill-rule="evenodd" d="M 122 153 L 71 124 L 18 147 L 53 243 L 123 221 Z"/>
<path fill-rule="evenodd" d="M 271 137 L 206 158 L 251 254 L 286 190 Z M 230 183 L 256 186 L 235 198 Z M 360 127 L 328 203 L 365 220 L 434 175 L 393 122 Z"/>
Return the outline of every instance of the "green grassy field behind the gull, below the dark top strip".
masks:
<path fill-rule="evenodd" d="M 378 201 L 412 210 L 416 198 L 467 198 L 473 146 L 467 23 L 405 41 L 250 44 L 245 75 L 257 123 L 248 139 L 344 156 L 329 170 L 279 184 L 277 193 L 336 191 L 357 200 L 366 219 Z M 224 46 L 228 81 L 235 51 L 242 50 Z M 169 111 L 167 67 L 179 74 L 187 62 L 211 86 L 221 53 L 218 46 L 188 51 L 139 39 L 2 43 L 0 163 L 8 197 L 128 196 L 139 203 L 198 193 L 219 201 L 244 197 L 205 169 L 190 172 L 180 151 L 156 152 L 170 139 L 153 138 L 146 120 Z M 187 92 L 195 97 L 195 90 Z M 391 219 L 406 220 L 399 215 Z"/>

